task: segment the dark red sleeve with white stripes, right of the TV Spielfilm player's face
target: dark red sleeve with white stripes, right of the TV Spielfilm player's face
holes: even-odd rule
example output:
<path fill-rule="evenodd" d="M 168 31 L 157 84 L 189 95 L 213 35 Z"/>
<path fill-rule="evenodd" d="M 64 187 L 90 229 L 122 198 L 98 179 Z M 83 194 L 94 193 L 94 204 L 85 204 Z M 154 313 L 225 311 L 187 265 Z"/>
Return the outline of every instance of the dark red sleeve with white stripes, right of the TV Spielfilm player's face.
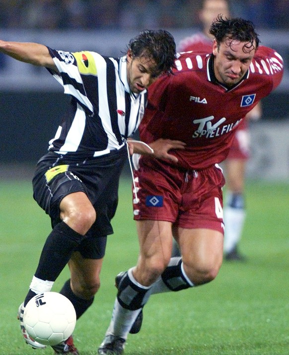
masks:
<path fill-rule="evenodd" d="M 251 73 L 265 76 L 271 83 L 271 90 L 278 87 L 284 74 L 284 61 L 274 49 L 260 46 L 250 65 Z"/>

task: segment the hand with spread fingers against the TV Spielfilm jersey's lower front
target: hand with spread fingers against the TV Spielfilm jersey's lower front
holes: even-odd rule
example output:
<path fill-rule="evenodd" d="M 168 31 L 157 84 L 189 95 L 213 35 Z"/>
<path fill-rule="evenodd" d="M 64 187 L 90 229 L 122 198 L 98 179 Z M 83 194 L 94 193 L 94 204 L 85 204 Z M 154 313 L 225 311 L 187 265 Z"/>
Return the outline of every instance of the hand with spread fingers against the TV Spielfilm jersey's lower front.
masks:
<path fill-rule="evenodd" d="M 178 159 L 168 152 L 171 149 L 185 149 L 186 143 L 182 141 L 174 141 L 171 139 L 159 138 L 156 141 L 150 143 L 150 147 L 153 149 L 153 156 L 157 159 L 169 160 L 173 163 L 177 163 Z"/>

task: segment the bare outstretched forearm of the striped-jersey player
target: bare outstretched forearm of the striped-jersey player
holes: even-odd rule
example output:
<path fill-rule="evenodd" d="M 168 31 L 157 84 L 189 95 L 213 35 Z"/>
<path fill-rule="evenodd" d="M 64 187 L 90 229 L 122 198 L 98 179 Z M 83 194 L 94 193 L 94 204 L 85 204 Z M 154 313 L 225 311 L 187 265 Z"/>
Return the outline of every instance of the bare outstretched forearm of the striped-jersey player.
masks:
<path fill-rule="evenodd" d="M 0 40 L 0 52 L 21 62 L 50 68 L 57 71 L 48 48 L 43 44 L 7 42 Z"/>

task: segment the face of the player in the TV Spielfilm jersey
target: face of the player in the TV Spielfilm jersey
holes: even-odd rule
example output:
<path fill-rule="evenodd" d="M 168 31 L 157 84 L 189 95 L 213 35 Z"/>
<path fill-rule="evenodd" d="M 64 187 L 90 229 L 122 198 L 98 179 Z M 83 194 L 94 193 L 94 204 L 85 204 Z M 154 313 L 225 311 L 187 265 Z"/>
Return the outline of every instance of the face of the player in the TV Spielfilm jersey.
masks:
<path fill-rule="evenodd" d="M 215 55 L 214 72 L 217 80 L 227 86 L 237 84 L 246 74 L 255 54 L 250 43 L 227 39 L 217 47 L 213 45 Z"/>

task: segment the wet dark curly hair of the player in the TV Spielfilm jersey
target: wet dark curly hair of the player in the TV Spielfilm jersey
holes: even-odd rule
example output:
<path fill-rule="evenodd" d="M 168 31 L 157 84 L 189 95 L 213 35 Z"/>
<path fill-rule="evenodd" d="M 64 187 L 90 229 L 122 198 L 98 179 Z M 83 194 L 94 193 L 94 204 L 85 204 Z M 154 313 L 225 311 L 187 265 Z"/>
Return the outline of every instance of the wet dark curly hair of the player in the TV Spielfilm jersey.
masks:
<path fill-rule="evenodd" d="M 240 17 L 222 18 L 219 14 L 216 21 L 212 23 L 209 33 L 216 38 L 217 46 L 227 38 L 246 42 L 243 46 L 244 52 L 252 46 L 256 50 L 260 43 L 253 22 Z"/>

